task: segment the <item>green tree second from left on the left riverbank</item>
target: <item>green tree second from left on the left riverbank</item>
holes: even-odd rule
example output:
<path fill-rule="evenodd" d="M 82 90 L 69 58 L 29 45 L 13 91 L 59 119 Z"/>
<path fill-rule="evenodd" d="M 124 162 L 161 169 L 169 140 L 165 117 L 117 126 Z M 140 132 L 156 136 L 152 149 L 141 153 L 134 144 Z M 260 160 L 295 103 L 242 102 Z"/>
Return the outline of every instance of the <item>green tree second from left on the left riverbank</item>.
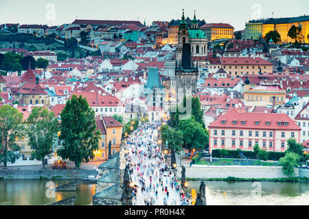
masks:
<path fill-rule="evenodd" d="M 52 151 L 52 145 L 58 131 L 58 119 L 54 112 L 43 107 L 34 107 L 28 117 L 30 127 L 27 130 L 28 144 L 34 149 L 38 159 L 42 160 L 45 168 L 44 157 Z"/>

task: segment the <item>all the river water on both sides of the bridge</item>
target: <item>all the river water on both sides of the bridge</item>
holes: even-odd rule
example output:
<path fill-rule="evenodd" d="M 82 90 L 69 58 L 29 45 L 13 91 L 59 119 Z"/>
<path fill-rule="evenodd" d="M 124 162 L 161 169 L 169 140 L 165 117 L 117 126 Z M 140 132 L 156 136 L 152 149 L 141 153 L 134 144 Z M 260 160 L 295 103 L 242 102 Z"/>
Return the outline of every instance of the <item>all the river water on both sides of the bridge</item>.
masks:
<path fill-rule="evenodd" d="M 0 205 L 46 205 L 76 195 L 76 205 L 92 205 L 95 184 L 77 185 L 76 192 L 49 192 L 73 180 L 0 180 Z M 196 196 L 200 181 L 188 181 Z M 309 205 L 309 183 L 205 181 L 207 205 Z"/>

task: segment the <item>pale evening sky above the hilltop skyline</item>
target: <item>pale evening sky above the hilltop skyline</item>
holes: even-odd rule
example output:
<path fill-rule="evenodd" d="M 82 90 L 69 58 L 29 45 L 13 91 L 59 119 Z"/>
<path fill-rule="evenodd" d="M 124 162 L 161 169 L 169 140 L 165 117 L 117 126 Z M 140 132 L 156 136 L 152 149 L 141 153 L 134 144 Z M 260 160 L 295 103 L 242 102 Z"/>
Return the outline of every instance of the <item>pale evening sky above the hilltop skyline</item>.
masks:
<path fill-rule="evenodd" d="M 252 18 L 291 17 L 309 14 L 308 0 L 0 0 L 0 24 L 61 25 L 78 19 L 152 21 L 185 17 L 206 23 L 229 23 L 236 30 Z M 272 14 L 273 13 L 273 14 Z"/>

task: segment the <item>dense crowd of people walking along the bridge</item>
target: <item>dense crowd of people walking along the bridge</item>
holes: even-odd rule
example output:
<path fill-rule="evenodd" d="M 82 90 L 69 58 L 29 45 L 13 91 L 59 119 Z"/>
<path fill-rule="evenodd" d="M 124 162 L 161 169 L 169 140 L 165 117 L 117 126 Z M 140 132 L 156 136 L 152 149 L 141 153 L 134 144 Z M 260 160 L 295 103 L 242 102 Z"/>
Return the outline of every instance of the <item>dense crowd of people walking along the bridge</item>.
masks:
<path fill-rule="evenodd" d="M 189 205 L 158 144 L 160 123 L 146 123 L 127 140 L 126 162 L 134 183 L 133 205 Z"/>

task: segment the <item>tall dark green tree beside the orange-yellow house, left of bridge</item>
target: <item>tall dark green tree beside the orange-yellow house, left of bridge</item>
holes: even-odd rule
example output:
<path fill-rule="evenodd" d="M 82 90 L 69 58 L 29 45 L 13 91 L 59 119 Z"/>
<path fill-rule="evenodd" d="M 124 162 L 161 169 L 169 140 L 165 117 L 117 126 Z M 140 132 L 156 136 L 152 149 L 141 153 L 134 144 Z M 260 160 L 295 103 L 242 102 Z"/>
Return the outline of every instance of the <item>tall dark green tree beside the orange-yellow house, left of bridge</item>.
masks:
<path fill-rule="evenodd" d="M 98 150 L 100 131 L 96 131 L 95 112 L 91 110 L 86 98 L 73 95 L 62 110 L 60 140 L 62 148 L 58 155 L 75 162 L 76 168 L 82 162 L 93 159 L 93 151 Z"/>

